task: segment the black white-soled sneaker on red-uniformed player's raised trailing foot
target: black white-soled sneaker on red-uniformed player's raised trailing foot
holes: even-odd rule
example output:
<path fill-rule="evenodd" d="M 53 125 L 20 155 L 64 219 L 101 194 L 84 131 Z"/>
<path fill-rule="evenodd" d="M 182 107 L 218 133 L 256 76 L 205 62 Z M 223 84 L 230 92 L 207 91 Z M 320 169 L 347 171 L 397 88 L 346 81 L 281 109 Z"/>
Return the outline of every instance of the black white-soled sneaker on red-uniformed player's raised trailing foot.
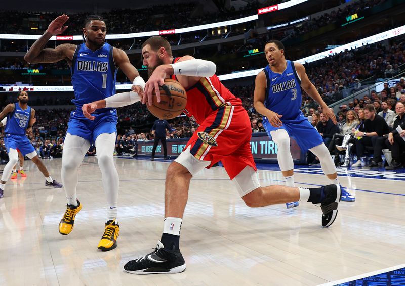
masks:
<path fill-rule="evenodd" d="M 322 209 L 322 226 L 332 225 L 338 215 L 338 205 L 342 196 L 340 185 L 323 186 L 323 198 L 320 208 Z"/>

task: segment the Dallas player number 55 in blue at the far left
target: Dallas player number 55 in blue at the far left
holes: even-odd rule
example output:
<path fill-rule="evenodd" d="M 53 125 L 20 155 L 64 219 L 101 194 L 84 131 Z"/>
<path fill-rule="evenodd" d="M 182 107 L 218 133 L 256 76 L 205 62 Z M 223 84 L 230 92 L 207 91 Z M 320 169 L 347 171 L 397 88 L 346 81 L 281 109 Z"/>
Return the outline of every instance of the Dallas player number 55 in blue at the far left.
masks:
<path fill-rule="evenodd" d="M 3 170 L 2 179 L 0 181 L 0 198 L 3 198 L 4 186 L 10 179 L 11 170 L 18 161 L 17 148 L 24 156 L 27 156 L 38 167 L 39 171 L 44 174 L 46 186 L 62 187 L 60 183 L 53 180 L 48 173 L 47 168 L 38 155 L 32 144 L 30 143 L 26 133 L 32 135 L 32 125 L 35 122 L 35 110 L 28 106 L 28 93 L 20 91 L 17 94 L 17 102 L 8 104 L 2 112 L 0 112 L 0 120 L 7 116 L 7 125 L 4 130 L 4 143 L 9 154 L 9 162 Z"/>

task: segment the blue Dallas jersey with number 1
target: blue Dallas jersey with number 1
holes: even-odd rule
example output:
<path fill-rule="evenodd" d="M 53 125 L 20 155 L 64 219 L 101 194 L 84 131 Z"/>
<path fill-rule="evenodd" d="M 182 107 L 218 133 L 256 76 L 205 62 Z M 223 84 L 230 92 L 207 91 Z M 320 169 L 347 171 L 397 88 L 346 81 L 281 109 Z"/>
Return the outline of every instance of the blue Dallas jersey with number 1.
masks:
<path fill-rule="evenodd" d="M 72 102 L 78 109 L 85 103 L 102 100 L 115 94 L 118 69 L 115 68 L 113 49 L 114 47 L 108 43 L 94 52 L 85 43 L 76 47 L 70 71 L 74 89 Z"/>

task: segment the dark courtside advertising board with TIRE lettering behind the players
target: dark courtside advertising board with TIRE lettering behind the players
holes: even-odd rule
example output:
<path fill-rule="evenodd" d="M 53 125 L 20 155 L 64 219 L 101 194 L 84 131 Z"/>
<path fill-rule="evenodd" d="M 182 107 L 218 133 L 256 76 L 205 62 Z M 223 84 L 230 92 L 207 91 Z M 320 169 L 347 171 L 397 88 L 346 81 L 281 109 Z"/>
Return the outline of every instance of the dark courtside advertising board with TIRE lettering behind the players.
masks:
<path fill-rule="evenodd" d="M 183 151 L 189 138 L 170 139 L 166 140 L 168 156 L 177 157 Z M 277 145 L 269 140 L 266 133 L 253 133 L 250 141 L 253 158 L 258 161 L 277 161 Z M 138 142 L 138 155 L 151 155 L 153 148 L 153 140 L 147 142 Z M 215 148 L 215 147 L 213 147 Z M 163 147 L 161 144 L 157 145 L 155 156 L 163 157 Z M 295 163 L 305 163 L 301 156 L 301 149 L 297 142 L 291 138 L 291 155 Z"/>

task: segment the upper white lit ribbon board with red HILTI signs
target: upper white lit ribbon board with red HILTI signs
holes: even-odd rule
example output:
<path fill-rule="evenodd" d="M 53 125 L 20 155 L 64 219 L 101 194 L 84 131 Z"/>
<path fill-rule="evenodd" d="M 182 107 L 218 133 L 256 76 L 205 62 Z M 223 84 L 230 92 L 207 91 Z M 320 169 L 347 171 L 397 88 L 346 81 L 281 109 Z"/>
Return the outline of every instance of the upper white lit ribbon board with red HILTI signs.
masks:
<path fill-rule="evenodd" d="M 181 29 L 170 29 L 170 30 L 160 30 L 160 31 L 151 31 L 151 32 L 141 32 L 141 33 L 130 33 L 130 34 L 109 34 L 106 35 L 106 39 L 128 39 L 128 38 L 140 38 L 140 37 L 150 37 L 150 36 L 157 36 L 157 35 L 167 35 L 167 34 L 181 34 L 181 33 L 188 33 L 194 31 L 201 31 L 206 29 L 213 29 L 213 28 L 220 28 L 224 26 L 236 25 L 241 23 L 246 23 L 250 21 L 254 21 L 259 19 L 259 14 L 264 14 L 276 10 L 286 9 L 292 7 L 294 5 L 306 2 L 308 0 L 290 0 L 287 2 L 283 2 L 280 4 L 276 4 L 269 7 L 264 7 L 258 9 L 258 14 L 243 17 L 239 19 L 229 20 L 229 21 L 222 21 L 217 23 L 199 25 L 194 27 L 188 28 L 181 28 Z M 271 11 L 270 11 L 271 10 Z M 265 12 L 267 11 L 267 12 Z M 41 35 L 14 35 L 14 34 L 0 34 L 0 39 L 13 39 L 13 40 L 37 40 Z M 66 37 L 66 38 L 63 38 Z M 56 40 L 83 40 L 82 35 L 75 35 L 75 36 L 52 36 L 50 38 L 51 41 Z"/>

